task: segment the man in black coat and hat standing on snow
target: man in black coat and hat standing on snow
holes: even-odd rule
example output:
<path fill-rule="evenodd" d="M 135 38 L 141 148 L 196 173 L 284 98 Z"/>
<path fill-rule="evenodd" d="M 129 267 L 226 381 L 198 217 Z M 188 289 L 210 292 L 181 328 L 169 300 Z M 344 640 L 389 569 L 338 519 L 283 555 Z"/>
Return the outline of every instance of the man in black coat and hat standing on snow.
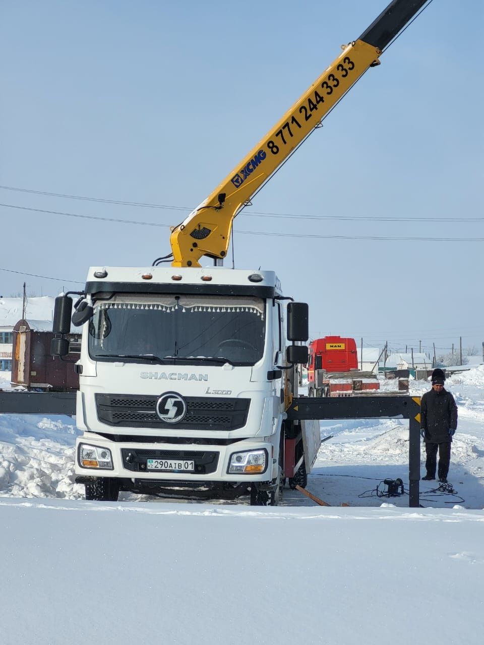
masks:
<path fill-rule="evenodd" d="M 425 439 L 427 475 L 435 479 L 437 450 L 439 450 L 439 482 L 447 484 L 450 464 L 450 445 L 457 430 L 457 406 L 454 397 L 444 388 L 445 373 L 437 368 L 432 372 L 432 390 L 425 392 L 420 402 L 420 434 Z"/>

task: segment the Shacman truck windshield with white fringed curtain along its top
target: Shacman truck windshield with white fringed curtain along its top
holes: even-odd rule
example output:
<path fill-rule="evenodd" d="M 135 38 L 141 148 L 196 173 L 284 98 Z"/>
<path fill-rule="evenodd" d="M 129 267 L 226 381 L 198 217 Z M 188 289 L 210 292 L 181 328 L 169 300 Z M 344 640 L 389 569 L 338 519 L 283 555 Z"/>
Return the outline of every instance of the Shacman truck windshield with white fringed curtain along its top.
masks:
<path fill-rule="evenodd" d="M 264 335 L 261 298 L 123 294 L 96 303 L 89 353 L 105 361 L 253 365 Z"/>

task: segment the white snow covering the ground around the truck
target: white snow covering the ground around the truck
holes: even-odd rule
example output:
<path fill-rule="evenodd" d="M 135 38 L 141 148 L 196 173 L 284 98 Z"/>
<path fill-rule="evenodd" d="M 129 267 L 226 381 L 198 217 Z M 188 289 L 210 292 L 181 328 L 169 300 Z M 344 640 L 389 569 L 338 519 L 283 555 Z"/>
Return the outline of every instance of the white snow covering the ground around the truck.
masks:
<path fill-rule="evenodd" d="M 404 420 L 321 422 L 334 437 L 307 489 L 332 507 L 285 489 L 260 508 L 86 502 L 74 421 L 0 415 L 0 645 L 480 644 L 484 367 L 446 387 L 456 494 L 421 482 L 419 509 L 375 492 L 385 477 L 408 487 Z"/>

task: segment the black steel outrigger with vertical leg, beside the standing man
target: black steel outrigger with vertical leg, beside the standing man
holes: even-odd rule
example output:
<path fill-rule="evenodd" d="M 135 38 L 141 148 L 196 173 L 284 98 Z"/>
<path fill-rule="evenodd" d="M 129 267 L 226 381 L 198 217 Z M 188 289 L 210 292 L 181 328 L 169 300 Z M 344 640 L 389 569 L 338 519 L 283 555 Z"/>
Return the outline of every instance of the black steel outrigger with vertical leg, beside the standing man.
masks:
<path fill-rule="evenodd" d="M 418 508 L 420 481 L 420 397 L 374 395 L 357 397 L 296 397 L 288 419 L 394 419 L 409 420 L 408 481 L 410 508 Z"/>

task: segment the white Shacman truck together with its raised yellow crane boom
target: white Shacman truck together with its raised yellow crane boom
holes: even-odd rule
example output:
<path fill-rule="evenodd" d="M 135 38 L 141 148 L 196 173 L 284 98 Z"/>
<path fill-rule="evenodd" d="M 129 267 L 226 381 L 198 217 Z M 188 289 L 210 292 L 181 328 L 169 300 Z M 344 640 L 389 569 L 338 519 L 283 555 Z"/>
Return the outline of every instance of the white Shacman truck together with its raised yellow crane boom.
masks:
<path fill-rule="evenodd" d="M 230 270 L 234 217 L 303 143 L 427 0 L 392 0 L 188 217 L 172 253 L 141 268 L 91 268 L 72 323 L 77 363 L 77 481 L 87 499 L 119 490 L 277 504 L 305 486 L 319 424 L 289 421 L 308 308 L 272 272 Z M 201 268 L 207 255 L 216 266 Z M 171 267 L 160 266 L 170 262 Z M 72 300 L 57 298 L 51 353 L 68 352 Z M 287 313 L 287 317 L 286 317 Z M 292 344 L 287 346 L 289 341 Z M 296 344 L 299 343 L 299 344 Z"/>

